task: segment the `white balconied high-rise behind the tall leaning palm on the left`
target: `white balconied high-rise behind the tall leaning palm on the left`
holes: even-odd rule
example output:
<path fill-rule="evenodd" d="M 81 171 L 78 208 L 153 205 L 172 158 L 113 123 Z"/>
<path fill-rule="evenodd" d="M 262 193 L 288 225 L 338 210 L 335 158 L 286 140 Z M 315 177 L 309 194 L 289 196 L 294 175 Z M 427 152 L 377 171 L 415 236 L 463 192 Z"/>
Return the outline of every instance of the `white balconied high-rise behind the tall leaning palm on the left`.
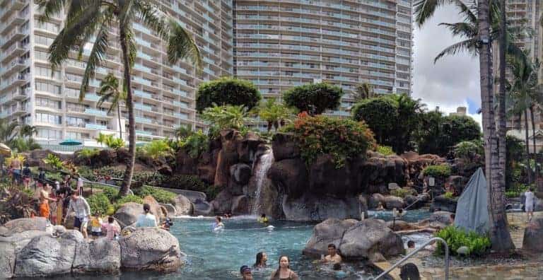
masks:
<path fill-rule="evenodd" d="M 136 136 L 148 140 L 173 136 L 176 127 L 204 127 L 194 110 L 195 86 L 203 80 L 231 75 L 233 71 L 232 3 L 230 1 L 160 1 L 165 11 L 194 34 L 202 50 L 202 75 L 187 62 L 168 63 L 165 45 L 145 25 L 134 23 L 137 57 L 132 71 Z M 29 0 L 2 1 L 0 10 L 0 117 L 37 127 L 37 140 L 56 144 L 62 139 L 92 140 L 100 132 L 126 132 L 127 111 L 119 124 L 109 103 L 97 107 L 95 91 L 100 79 L 113 73 L 122 77 L 119 43 L 110 42 L 107 62 L 97 70 L 83 102 L 78 101 L 86 58 L 92 45 L 84 46 L 83 61 L 76 52 L 53 72 L 47 49 L 63 26 L 63 18 L 40 23 L 37 5 Z M 117 30 L 110 30 L 112 38 Z M 123 134 L 124 138 L 127 134 Z"/>

